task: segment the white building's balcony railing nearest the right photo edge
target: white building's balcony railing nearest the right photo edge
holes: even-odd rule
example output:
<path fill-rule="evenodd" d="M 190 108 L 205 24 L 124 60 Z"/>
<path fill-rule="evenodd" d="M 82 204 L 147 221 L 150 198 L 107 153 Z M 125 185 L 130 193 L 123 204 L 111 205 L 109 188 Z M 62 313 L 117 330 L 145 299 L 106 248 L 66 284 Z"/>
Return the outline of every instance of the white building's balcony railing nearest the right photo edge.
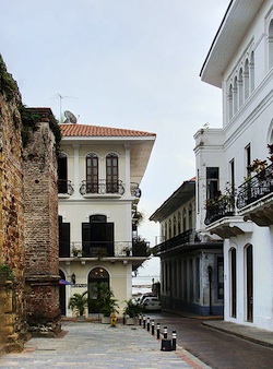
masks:
<path fill-rule="evenodd" d="M 273 191 L 273 164 L 238 188 L 236 205 L 242 209 Z"/>

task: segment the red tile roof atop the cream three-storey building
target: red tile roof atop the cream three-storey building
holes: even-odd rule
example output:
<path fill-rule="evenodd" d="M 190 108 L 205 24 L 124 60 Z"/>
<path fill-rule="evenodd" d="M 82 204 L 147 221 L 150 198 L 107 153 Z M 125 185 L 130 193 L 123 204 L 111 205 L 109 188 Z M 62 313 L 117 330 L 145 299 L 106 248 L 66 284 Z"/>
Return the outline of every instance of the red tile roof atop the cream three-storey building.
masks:
<path fill-rule="evenodd" d="M 60 124 L 63 136 L 154 136 L 155 133 L 90 124 Z"/>

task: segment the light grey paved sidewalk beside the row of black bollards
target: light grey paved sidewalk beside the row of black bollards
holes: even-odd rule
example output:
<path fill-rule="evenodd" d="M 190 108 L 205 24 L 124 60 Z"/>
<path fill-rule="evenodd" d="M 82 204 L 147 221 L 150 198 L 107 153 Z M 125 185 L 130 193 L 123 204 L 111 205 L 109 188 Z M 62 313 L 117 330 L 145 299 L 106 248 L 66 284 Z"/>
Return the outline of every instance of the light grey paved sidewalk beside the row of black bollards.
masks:
<path fill-rule="evenodd" d="M 32 338 L 25 349 L 0 357 L 0 368 L 209 368 L 187 350 L 161 350 L 142 326 L 63 322 L 57 338 Z"/>

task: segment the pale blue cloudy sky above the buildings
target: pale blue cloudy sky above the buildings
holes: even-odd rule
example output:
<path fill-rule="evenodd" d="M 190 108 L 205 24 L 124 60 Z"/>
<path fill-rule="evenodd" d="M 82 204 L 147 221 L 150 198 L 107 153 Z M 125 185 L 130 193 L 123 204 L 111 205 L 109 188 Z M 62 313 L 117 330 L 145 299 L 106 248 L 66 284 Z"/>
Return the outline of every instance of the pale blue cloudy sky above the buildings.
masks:
<path fill-rule="evenodd" d="M 24 105 L 156 133 L 139 203 L 151 246 L 159 226 L 149 217 L 195 175 L 193 134 L 222 126 L 221 90 L 199 74 L 228 3 L 1 0 L 0 53 Z"/>

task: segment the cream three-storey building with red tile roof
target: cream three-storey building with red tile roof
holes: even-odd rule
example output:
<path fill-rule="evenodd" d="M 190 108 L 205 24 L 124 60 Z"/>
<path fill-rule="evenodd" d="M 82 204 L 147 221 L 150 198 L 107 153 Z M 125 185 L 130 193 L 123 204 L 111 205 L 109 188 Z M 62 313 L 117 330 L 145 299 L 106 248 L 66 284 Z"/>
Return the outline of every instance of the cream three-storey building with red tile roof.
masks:
<path fill-rule="evenodd" d="M 70 296 L 102 282 L 121 308 L 132 295 L 132 269 L 149 255 L 136 239 L 136 206 L 155 134 L 79 123 L 60 128 L 59 261 L 61 278 L 71 283 L 60 289 L 62 314 L 72 314 Z"/>

